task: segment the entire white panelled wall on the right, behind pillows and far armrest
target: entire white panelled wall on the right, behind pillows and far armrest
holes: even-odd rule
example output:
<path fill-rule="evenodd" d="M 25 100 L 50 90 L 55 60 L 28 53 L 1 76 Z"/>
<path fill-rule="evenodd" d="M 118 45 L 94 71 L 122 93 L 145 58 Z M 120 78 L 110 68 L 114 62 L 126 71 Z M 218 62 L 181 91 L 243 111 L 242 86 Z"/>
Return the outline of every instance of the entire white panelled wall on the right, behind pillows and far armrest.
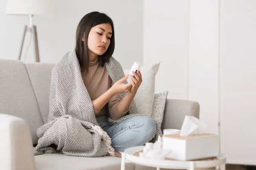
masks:
<path fill-rule="evenodd" d="M 156 92 L 199 102 L 227 163 L 256 165 L 256 1 L 144 0 L 143 7 L 144 63 L 161 61 Z"/>

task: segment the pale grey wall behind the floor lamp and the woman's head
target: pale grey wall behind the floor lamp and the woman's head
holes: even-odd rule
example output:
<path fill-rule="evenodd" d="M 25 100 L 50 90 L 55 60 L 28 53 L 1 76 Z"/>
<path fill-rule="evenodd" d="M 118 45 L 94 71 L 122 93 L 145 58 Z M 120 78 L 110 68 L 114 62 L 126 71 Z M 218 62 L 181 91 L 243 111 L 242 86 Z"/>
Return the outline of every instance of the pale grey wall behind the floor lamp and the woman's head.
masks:
<path fill-rule="evenodd" d="M 54 0 L 54 3 L 55 16 L 33 17 L 33 23 L 37 26 L 38 31 L 41 62 L 56 63 L 67 51 L 75 46 L 76 27 L 81 18 L 91 11 L 104 12 L 113 20 L 116 34 L 116 47 L 113 56 L 121 62 L 123 67 L 130 68 L 135 60 L 143 62 L 142 1 Z M 1 0 L 0 59 L 17 59 L 23 26 L 29 24 L 29 18 L 26 16 L 6 15 L 5 7 L 6 0 Z M 29 36 L 25 39 L 23 52 L 26 51 L 28 42 Z M 31 43 L 25 62 L 34 62 L 33 48 L 33 43 Z"/>

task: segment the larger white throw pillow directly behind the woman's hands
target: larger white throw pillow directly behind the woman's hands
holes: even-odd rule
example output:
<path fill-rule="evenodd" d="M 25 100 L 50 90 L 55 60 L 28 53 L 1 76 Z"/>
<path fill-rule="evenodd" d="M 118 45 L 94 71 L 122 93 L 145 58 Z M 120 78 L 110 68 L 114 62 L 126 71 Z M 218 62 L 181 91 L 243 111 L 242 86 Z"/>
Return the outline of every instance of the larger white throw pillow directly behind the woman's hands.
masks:
<path fill-rule="evenodd" d="M 141 83 L 137 94 L 134 97 L 139 114 L 152 115 L 152 106 L 155 91 L 155 76 L 157 74 L 160 62 L 151 66 L 141 66 L 140 72 L 143 82 Z M 125 75 L 128 74 L 130 69 L 126 69 Z M 130 77 L 127 79 L 130 82 Z"/>

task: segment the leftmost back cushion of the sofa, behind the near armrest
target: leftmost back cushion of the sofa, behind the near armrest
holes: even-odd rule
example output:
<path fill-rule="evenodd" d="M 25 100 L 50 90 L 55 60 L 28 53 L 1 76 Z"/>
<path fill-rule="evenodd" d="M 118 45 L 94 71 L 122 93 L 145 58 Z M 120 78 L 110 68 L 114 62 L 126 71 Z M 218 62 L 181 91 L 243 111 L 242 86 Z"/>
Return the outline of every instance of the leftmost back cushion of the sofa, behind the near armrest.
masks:
<path fill-rule="evenodd" d="M 37 144 L 36 130 L 43 121 L 26 68 L 19 60 L 0 59 L 0 113 L 24 119 Z"/>

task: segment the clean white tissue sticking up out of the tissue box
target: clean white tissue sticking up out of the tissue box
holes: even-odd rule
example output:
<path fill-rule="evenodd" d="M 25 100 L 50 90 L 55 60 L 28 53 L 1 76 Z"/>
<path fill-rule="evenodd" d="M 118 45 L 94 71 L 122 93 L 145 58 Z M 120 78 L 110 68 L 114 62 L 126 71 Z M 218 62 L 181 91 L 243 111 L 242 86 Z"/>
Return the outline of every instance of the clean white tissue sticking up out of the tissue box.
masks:
<path fill-rule="evenodd" d="M 189 136 L 204 133 L 207 125 L 194 116 L 185 116 L 180 130 L 180 136 Z"/>

